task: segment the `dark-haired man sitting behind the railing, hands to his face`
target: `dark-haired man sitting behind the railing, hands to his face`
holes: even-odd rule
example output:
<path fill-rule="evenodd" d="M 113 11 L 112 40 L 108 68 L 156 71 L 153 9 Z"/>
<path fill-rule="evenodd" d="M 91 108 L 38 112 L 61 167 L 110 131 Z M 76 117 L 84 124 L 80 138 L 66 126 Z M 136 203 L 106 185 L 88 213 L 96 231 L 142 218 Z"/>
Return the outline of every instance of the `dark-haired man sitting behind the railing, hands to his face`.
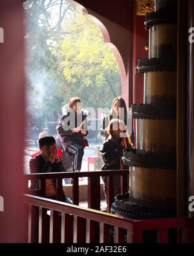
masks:
<path fill-rule="evenodd" d="M 30 159 L 30 173 L 65 172 L 63 163 L 57 154 L 56 141 L 52 136 L 39 139 L 41 154 Z M 38 180 L 31 181 L 30 189 L 38 189 Z M 46 197 L 56 199 L 55 180 L 46 180 Z M 72 204 L 72 200 L 63 193 L 63 202 Z"/>

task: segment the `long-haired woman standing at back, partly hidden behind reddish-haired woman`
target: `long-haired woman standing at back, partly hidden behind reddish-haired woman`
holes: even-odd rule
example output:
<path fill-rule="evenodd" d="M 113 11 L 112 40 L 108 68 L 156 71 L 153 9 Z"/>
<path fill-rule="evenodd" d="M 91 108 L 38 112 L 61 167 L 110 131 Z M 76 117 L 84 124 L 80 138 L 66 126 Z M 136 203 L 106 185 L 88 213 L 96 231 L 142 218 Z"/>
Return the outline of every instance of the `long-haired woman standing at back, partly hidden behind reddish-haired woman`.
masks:
<path fill-rule="evenodd" d="M 131 143 L 134 144 L 134 132 L 131 128 L 131 119 L 129 118 L 129 113 L 127 113 L 127 107 L 125 100 L 122 97 L 116 97 L 113 100 L 111 111 L 105 115 L 102 121 L 102 126 L 100 129 L 100 135 L 107 139 L 109 136 L 107 133 L 107 126 L 112 119 L 120 119 L 124 121 L 125 126 L 127 126 L 128 131 L 131 131 Z"/>

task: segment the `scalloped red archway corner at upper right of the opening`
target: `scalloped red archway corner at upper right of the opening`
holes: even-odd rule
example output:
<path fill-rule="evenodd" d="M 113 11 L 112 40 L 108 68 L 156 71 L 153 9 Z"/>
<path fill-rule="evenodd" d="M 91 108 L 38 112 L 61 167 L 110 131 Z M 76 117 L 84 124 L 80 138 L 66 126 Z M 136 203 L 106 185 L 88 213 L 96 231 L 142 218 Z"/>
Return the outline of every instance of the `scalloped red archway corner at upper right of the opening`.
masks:
<path fill-rule="evenodd" d="M 68 0 L 78 6 L 83 14 L 87 15 L 103 34 L 104 42 L 109 45 L 120 67 L 122 97 L 127 106 L 131 106 L 133 100 L 133 1 L 120 1 L 116 5 L 122 8 L 124 16 L 110 16 L 111 6 L 114 12 L 117 10 L 114 1 L 103 1 L 100 4 L 84 0 Z M 121 3 L 122 2 L 122 3 Z M 103 8 L 102 8 L 103 6 Z"/>

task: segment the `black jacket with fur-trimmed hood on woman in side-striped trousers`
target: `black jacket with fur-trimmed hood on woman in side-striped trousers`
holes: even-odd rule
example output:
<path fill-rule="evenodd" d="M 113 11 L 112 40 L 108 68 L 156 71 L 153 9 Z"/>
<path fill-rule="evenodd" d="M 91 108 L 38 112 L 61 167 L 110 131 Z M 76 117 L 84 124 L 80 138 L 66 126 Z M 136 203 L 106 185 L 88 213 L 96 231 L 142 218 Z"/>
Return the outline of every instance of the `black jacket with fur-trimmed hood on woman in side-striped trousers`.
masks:
<path fill-rule="evenodd" d="M 72 119 L 70 119 L 70 117 L 72 117 Z M 66 147 L 71 143 L 71 141 L 75 141 L 78 143 L 78 145 L 83 146 L 83 135 L 81 132 L 72 133 L 72 129 L 80 126 L 81 122 L 83 121 L 84 123 L 82 124 L 81 128 L 87 131 L 87 111 L 81 110 L 80 114 L 77 115 L 71 108 L 67 106 L 63 108 L 63 116 L 59 120 L 56 130 L 61 138 L 61 141 L 65 143 Z M 69 129 L 67 129 L 68 126 L 70 126 Z M 84 136 L 87 136 L 87 134 Z"/>

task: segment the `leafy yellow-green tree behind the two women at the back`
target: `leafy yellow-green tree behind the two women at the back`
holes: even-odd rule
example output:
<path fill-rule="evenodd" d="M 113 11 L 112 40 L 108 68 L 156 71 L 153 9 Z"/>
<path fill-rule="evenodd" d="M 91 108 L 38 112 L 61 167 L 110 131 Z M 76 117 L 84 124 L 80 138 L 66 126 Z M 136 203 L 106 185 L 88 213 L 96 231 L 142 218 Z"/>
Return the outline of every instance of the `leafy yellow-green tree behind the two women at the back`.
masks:
<path fill-rule="evenodd" d="M 110 107 L 114 97 L 120 95 L 120 72 L 102 32 L 82 14 L 67 29 L 70 34 L 61 41 L 59 67 L 69 89 L 61 84 L 58 94 L 78 95 L 87 107 Z"/>

